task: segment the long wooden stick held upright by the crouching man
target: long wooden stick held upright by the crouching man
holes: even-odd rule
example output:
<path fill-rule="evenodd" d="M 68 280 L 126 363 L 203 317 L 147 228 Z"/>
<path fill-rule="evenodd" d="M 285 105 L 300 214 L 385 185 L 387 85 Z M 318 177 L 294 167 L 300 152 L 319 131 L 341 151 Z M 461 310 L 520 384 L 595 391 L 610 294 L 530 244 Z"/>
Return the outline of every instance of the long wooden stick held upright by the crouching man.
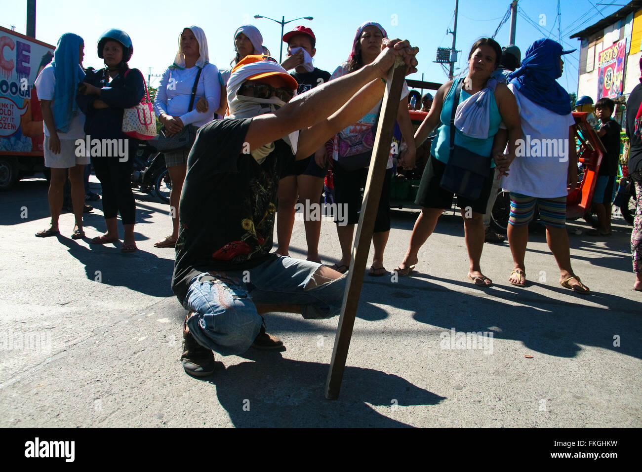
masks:
<path fill-rule="evenodd" d="M 352 262 L 347 275 L 345 294 L 343 295 L 341 317 L 339 318 L 339 326 L 334 339 L 330 370 L 325 383 L 325 398 L 331 400 L 336 400 L 339 397 L 339 390 L 341 389 L 345 360 L 348 356 L 352 327 L 354 326 L 354 318 L 359 305 L 365 265 L 370 252 L 370 240 L 372 240 L 374 220 L 377 217 L 379 198 L 381 197 L 386 164 L 388 164 L 388 155 L 390 155 L 390 146 L 392 144 L 392 132 L 394 131 L 395 121 L 397 121 L 397 110 L 399 110 L 401 89 L 403 88 L 405 75 L 406 64 L 397 59 L 388 74 L 390 87 L 386 87 L 386 91 L 383 94 L 383 103 L 381 105 L 383 108 L 379 115 L 377 134 L 374 139 L 372 157 L 370 158 L 368 180 L 363 194 L 363 204 L 361 204 L 357 236 L 352 248 Z"/>

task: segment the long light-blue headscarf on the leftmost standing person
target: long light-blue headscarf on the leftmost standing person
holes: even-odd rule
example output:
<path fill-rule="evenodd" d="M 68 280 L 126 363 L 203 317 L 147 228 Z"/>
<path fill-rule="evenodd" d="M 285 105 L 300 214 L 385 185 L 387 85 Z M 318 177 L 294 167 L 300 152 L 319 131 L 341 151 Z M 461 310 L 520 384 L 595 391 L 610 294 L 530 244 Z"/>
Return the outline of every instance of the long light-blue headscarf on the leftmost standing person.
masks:
<path fill-rule="evenodd" d="M 58 39 L 58 45 L 53 52 L 53 71 L 56 77 L 56 87 L 53 94 L 53 122 L 56 130 L 63 133 L 69 131 L 69 125 L 76 105 L 76 87 L 85 78 L 85 72 L 78 64 L 80 46 L 85 41 L 74 33 L 64 33 Z"/>

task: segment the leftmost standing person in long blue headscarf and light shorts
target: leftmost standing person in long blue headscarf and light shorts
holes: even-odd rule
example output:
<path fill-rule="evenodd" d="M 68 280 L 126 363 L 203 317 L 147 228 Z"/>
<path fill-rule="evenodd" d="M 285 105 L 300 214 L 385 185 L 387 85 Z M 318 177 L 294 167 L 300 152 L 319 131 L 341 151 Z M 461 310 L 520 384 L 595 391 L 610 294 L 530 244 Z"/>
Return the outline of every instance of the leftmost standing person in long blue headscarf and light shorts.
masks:
<path fill-rule="evenodd" d="M 62 211 L 63 188 L 67 175 L 71 180 L 76 225 L 72 238 L 82 238 L 82 213 L 85 204 L 83 173 L 89 157 L 76 155 L 76 139 L 83 139 L 85 116 L 76 105 L 76 87 L 85 78 L 80 63 L 84 56 L 85 41 L 74 33 L 65 33 L 58 39 L 53 61 L 48 64 L 35 81 L 44 120 L 44 161 L 51 168 L 49 183 L 49 211 L 51 223 L 48 229 L 36 233 L 40 238 L 55 236 L 58 231 L 58 216 Z"/>

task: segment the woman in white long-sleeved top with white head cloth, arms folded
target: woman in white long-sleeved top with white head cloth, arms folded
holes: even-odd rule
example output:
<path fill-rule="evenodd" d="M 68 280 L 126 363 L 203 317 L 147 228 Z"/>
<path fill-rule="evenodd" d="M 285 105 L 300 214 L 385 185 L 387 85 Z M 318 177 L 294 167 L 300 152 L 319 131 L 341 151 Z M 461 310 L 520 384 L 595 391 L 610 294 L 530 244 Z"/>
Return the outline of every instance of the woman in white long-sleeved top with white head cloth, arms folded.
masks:
<path fill-rule="evenodd" d="M 178 200 L 187 171 L 187 155 L 196 138 L 196 130 L 214 119 L 214 112 L 220 105 L 221 87 L 218 76 L 218 68 L 209 63 L 204 31 L 198 26 L 185 28 L 178 37 L 178 52 L 174 63 L 160 79 L 154 109 L 169 136 L 177 134 L 184 127 L 191 127 L 191 141 L 184 148 L 165 152 L 165 163 L 172 182 L 169 207 L 173 231 L 155 243 L 155 247 L 176 245 Z M 195 96 L 192 97 L 197 77 Z"/>

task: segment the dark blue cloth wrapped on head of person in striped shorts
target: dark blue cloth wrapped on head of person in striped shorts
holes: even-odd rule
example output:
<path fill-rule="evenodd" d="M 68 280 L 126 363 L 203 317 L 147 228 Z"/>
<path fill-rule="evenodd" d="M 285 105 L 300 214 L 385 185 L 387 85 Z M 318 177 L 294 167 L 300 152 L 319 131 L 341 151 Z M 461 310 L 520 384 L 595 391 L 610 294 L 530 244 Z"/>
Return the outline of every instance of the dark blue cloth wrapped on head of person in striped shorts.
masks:
<path fill-rule="evenodd" d="M 562 76 L 562 46 L 552 39 L 538 39 L 526 51 L 521 67 L 508 80 L 526 98 L 559 115 L 571 112 L 571 98 L 557 83 Z"/>

